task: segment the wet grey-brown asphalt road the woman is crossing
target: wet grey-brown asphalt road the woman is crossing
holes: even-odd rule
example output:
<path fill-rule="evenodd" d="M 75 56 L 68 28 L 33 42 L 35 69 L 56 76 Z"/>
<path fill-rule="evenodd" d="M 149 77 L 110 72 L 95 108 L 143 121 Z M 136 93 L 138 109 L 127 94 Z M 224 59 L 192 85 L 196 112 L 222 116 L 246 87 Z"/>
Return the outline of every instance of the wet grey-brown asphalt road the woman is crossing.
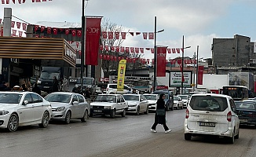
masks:
<path fill-rule="evenodd" d="M 93 117 L 88 122 L 50 122 L 48 128 L 20 127 L 14 133 L 0 130 L 0 155 L 19 157 L 41 156 L 256 156 L 254 127 L 240 129 L 235 144 L 224 138 L 192 137 L 184 140 L 185 110 L 167 112 L 167 126 L 173 131 L 151 133 L 154 114 Z"/>

